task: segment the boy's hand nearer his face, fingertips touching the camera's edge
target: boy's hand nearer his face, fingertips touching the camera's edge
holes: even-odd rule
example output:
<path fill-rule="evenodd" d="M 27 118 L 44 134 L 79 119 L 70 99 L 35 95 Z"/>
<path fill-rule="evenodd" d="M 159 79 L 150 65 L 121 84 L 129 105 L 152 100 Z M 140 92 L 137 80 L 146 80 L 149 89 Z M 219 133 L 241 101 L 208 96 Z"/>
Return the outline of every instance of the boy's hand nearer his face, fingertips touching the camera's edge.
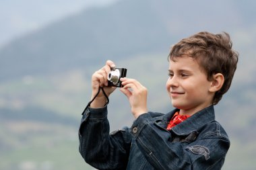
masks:
<path fill-rule="evenodd" d="M 131 105 L 131 112 L 135 118 L 148 112 L 147 95 L 148 90 L 135 79 L 121 78 L 123 87 L 120 88 Z"/>

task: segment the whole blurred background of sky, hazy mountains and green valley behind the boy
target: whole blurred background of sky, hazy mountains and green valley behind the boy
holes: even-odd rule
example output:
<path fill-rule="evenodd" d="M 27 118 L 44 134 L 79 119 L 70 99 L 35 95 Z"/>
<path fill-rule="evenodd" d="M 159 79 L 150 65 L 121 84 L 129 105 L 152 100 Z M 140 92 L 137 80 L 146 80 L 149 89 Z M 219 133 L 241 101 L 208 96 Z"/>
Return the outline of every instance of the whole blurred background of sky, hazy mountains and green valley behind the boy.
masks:
<path fill-rule="evenodd" d="M 107 59 L 148 88 L 148 107 L 172 110 L 170 46 L 197 32 L 228 32 L 240 53 L 216 119 L 231 140 L 223 169 L 256 169 L 256 1 L 11 0 L 0 2 L 0 169 L 93 169 L 77 130 L 90 78 Z M 118 90 L 110 129 L 133 122 Z"/>

